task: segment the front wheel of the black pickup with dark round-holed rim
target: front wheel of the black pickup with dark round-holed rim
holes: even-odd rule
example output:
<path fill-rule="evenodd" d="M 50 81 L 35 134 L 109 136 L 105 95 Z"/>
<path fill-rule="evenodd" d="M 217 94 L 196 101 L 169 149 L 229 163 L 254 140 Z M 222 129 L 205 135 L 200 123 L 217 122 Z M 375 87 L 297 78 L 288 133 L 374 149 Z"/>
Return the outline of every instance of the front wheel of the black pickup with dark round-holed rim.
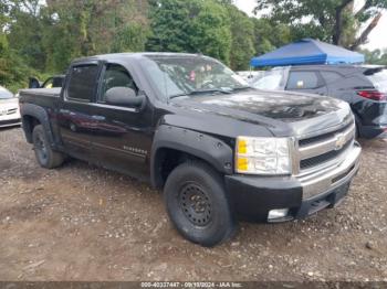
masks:
<path fill-rule="evenodd" d="M 192 243 L 212 247 L 236 232 L 222 179 L 206 163 L 178 165 L 168 176 L 164 199 L 175 227 Z"/>

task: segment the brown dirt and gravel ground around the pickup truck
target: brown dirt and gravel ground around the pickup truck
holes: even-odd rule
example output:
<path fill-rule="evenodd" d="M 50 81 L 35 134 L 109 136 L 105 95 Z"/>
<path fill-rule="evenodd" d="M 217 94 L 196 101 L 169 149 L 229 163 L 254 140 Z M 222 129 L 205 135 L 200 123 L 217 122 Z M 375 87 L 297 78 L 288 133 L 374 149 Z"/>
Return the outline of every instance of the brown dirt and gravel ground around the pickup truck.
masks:
<path fill-rule="evenodd" d="M 231 242 L 202 248 L 147 184 L 81 161 L 41 169 L 20 128 L 0 130 L 0 280 L 387 281 L 387 140 L 362 144 L 337 208 L 242 223 Z"/>

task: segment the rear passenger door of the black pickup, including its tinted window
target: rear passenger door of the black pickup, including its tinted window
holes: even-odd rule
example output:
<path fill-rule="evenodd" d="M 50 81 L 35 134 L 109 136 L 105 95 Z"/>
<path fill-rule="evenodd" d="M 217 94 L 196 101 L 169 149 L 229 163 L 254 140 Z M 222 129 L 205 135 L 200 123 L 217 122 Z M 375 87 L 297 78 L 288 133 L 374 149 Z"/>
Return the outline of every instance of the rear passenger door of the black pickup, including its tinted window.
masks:
<path fill-rule="evenodd" d="M 90 104 L 97 92 L 101 65 L 97 62 L 73 65 L 63 90 L 57 124 L 65 149 L 80 159 L 88 159 L 91 135 L 96 120 L 90 111 Z"/>

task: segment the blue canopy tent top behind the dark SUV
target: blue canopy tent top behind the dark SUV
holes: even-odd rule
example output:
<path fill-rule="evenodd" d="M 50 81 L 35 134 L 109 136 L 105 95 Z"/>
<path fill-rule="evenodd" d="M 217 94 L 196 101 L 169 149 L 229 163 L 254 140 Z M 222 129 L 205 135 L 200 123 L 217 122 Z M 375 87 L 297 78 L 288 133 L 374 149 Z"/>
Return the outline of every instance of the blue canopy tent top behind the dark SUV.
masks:
<path fill-rule="evenodd" d="M 306 64 L 354 64 L 364 63 L 364 55 L 313 39 L 287 44 L 275 51 L 251 60 L 254 67 Z"/>

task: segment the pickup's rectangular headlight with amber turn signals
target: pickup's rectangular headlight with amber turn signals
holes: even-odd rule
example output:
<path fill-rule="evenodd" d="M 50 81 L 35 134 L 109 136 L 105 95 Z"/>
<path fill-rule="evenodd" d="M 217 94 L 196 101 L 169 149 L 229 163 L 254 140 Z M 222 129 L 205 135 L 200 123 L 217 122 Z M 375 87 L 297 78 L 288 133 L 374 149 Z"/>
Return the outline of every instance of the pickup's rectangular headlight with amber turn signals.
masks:
<path fill-rule="evenodd" d="M 238 137 L 236 171 L 248 174 L 290 174 L 287 138 Z"/>

